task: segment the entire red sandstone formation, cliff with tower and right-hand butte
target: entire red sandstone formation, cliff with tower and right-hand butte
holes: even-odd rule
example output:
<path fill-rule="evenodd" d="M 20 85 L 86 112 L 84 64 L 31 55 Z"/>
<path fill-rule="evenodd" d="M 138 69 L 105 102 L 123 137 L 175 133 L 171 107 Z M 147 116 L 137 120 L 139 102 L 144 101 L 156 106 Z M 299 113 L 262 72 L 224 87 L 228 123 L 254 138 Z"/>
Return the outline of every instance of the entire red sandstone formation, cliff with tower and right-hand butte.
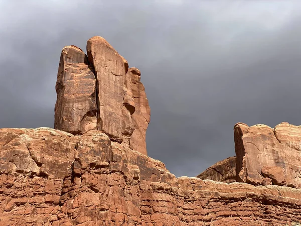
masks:
<path fill-rule="evenodd" d="M 239 123 L 236 157 L 176 178 L 147 157 L 140 71 L 106 40 L 63 48 L 56 91 L 55 129 L 0 129 L 1 226 L 300 225 L 300 127 Z"/>

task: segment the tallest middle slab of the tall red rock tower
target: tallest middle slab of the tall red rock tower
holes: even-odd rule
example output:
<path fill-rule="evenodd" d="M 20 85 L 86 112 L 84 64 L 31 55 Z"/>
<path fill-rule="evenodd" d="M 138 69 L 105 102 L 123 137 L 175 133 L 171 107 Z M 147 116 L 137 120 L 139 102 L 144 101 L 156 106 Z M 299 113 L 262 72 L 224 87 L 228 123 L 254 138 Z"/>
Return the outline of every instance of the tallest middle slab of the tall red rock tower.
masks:
<path fill-rule="evenodd" d="M 87 42 L 89 61 L 94 66 L 97 80 L 97 126 L 112 139 L 123 140 L 124 112 L 123 85 L 124 60 L 102 37 L 95 36 Z"/>

